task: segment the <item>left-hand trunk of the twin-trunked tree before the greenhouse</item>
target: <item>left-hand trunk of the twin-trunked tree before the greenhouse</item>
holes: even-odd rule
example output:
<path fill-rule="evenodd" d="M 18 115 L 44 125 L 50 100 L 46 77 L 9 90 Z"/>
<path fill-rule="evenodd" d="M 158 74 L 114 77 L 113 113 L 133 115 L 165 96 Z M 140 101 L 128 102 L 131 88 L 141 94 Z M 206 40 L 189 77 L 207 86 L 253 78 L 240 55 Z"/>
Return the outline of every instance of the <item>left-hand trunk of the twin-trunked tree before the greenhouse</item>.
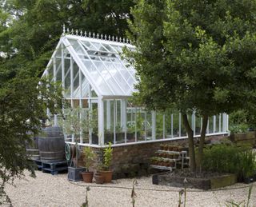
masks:
<path fill-rule="evenodd" d="M 190 170 L 192 172 L 195 172 L 196 163 L 195 163 L 195 153 L 194 153 L 194 132 L 191 129 L 190 122 L 187 120 L 186 114 L 182 114 L 182 121 L 186 129 L 186 133 L 189 137 Z"/>

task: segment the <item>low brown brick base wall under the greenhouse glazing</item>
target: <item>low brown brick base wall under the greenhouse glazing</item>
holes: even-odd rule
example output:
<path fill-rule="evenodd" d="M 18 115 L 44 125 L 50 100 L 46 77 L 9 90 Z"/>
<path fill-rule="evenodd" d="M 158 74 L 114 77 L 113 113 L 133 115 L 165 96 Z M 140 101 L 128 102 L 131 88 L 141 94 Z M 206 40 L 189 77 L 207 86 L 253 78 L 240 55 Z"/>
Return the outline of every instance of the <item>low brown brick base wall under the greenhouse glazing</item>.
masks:
<path fill-rule="evenodd" d="M 218 141 L 222 139 L 223 135 L 206 137 L 206 141 Z M 194 139 L 194 142 L 198 142 L 198 138 Z M 188 147 L 188 139 L 170 140 L 170 141 L 158 141 L 149 143 L 136 143 L 134 145 L 122 145 L 113 147 L 113 161 L 111 169 L 113 169 L 113 178 L 123 177 L 141 177 L 154 173 L 150 171 L 150 157 L 155 155 L 155 152 L 160 149 L 160 145 L 179 145 L 184 148 Z M 97 160 L 92 169 L 96 171 L 97 165 L 102 162 L 103 148 L 92 148 L 97 154 Z M 79 161 L 82 165 L 82 162 Z"/>

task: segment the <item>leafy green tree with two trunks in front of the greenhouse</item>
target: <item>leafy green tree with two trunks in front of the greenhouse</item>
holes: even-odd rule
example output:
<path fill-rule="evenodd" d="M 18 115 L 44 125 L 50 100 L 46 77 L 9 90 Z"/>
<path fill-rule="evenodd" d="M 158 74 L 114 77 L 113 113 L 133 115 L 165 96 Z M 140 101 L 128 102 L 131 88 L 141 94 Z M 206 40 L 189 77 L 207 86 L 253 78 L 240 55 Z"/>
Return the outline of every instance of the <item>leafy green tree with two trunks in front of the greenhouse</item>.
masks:
<path fill-rule="evenodd" d="M 198 163 L 208 117 L 246 108 L 255 98 L 256 3 L 250 0 L 140 0 L 131 11 L 126 57 L 140 77 L 138 99 L 150 109 L 174 104 L 189 137 L 190 169 L 196 169 L 187 114 L 202 116 Z"/>

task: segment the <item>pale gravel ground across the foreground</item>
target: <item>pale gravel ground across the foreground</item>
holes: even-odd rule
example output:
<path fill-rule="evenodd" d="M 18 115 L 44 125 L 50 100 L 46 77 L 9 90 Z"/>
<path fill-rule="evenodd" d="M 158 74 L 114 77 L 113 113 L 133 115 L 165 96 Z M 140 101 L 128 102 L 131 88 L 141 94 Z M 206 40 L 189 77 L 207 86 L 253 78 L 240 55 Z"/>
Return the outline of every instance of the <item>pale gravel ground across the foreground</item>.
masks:
<path fill-rule="evenodd" d="M 52 176 L 48 173 L 36 172 L 32 178 L 26 173 L 24 179 L 16 180 L 16 185 L 6 186 L 6 192 L 13 201 L 14 207 L 41 206 L 81 206 L 86 201 L 86 183 L 67 181 L 66 174 Z M 135 187 L 137 194 L 135 206 L 178 206 L 179 188 L 152 185 L 151 177 L 138 178 Z M 131 187 L 134 179 L 120 179 L 109 185 L 92 184 L 88 192 L 89 206 L 132 206 Z M 250 206 L 256 206 L 256 182 L 251 195 Z M 110 186 L 110 187 L 108 187 Z M 244 184 L 232 185 L 229 188 L 248 186 Z M 118 188 L 114 188 L 118 187 Z M 125 188 L 120 188 L 125 187 Z M 129 189 L 126 189 L 129 188 Z M 136 189 L 137 188 L 137 189 Z M 150 189 L 150 190 L 147 190 Z M 154 190 L 153 190 L 154 189 Z M 169 192 L 163 190 L 170 190 Z M 194 189 L 188 189 L 198 191 Z M 186 206 L 226 206 L 226 201 L 244 201 L 247 199 L 248 188 L 227 189 L 214 192 L 187 192 Z"/>

